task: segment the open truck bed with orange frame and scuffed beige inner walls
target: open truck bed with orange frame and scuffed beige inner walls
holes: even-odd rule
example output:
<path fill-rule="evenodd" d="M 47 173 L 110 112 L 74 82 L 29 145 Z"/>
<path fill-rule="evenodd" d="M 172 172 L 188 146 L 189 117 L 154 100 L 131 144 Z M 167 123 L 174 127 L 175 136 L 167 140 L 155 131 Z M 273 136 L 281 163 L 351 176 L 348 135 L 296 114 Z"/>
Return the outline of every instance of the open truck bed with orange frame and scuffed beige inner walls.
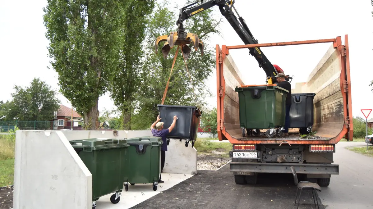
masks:
<path fill-rule="evenodd" d="M 316 42 L 315 42 L 316 43 Z M 276 43 L 278 44 L 278 43 Z M 229 47 L 228 47 L 229 48 Z M 235 65 L 225 45 L 216 45 L 217 70 L 217 121 L 219 140 L 229 140 L 232 144 L 289 143 L 295 144 L 335 144 L 343 137 L 352 140 L 352 106 L 350 90 L 350 66 L 348 37 L 345 45 L 337 37 L 317 66 L 308 76 L 307 82 L 296 83 L 292 93 L 316 93 L 314 97 L 315 138 L 301 139 L 299 134 L 267 138 L 266 136 L 242 138 L 239 125 L 238 93 L 236 86 L 243 83 L 241 73 Z M 296 76 L 296 75 L 295 75 Z"/>

